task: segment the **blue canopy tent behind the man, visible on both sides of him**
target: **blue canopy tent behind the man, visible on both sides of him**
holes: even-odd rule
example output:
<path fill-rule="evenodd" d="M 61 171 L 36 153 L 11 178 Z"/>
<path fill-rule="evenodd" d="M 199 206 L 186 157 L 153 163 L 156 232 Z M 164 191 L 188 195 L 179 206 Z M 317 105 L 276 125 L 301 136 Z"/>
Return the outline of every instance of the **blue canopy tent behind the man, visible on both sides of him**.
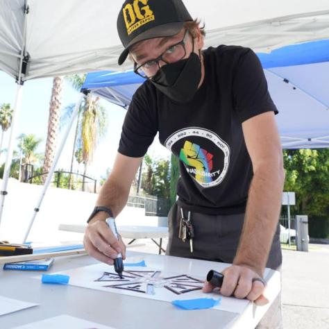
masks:
<path fill-rule="evenodd" d="M 258 53 L 285 149 L 329 147 L 329 40 Z M 133 71 L 87 74 L 83 90 L 128 108 L 144 79 Z"/>

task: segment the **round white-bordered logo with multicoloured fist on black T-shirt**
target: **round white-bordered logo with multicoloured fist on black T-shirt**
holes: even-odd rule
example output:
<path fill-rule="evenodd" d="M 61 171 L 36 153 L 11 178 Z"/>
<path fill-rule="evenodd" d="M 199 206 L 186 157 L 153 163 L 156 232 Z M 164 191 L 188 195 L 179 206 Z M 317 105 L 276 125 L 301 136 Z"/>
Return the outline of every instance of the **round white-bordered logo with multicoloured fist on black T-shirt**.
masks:
<path fill-rule="evenodd" d="M 211 130 L 190 127 L 170 135 L 165 146 L 178 155 L 202 187 L 219 185 L 228 171 L 230 147 Z"/>

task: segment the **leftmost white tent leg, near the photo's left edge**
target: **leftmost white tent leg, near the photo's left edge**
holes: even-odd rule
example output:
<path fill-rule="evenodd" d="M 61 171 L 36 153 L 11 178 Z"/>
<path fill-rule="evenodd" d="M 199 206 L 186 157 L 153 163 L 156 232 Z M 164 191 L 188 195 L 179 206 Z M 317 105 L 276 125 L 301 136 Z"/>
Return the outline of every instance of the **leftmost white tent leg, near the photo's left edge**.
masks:
<path fill-rule="evenodd" d="M 8 194 L 7 187 L 8 187 L 8 179 L 10 175 L 10 167 L 12 162 L 12 154 L 14 153 L 14 138 L 16 137 L 16 121 L 18 117 L 18 112 L 21 108 L 21 101 L 22 101 L 22 90 L 23 85 L 17 84 L 17 92 L 16 92 L 16 99 L 15 99 L 15 107 L 14 111 L 12 112 L 12 124 L 10 127 L 10 137 L 8 141 L 8 152 L 6 157 L 5 167 L 3 169 L 3 178 L 2 178 L 2 186 L 1 186 L 1 206 L 0 206 L 0 224 L 1 218 L 3 214 L 3 206 L 5 203 L 5 196 Z"/>

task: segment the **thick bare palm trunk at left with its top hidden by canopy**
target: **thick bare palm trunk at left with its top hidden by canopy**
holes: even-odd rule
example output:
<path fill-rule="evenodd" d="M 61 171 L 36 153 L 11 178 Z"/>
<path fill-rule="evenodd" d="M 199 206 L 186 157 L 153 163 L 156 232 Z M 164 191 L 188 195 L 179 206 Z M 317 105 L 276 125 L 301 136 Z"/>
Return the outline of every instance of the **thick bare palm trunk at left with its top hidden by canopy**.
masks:
<path fill-rule="evenodd" d="M 51 99 L 49 106 L 48 133 L 46 142 L 46 151 L 44 153 L 44 165 L 42 171 L 48 173 L 53 164 L 53 158 L 56 150 L 56 142 L 58 137 L 58 126 L 60 118 L 62 92 L 62 78 L 55 76 L 53 78 L 53 88 L 51 90 Z M 47 179 L 47 174 L 42 176 L 43 183 Z"/>

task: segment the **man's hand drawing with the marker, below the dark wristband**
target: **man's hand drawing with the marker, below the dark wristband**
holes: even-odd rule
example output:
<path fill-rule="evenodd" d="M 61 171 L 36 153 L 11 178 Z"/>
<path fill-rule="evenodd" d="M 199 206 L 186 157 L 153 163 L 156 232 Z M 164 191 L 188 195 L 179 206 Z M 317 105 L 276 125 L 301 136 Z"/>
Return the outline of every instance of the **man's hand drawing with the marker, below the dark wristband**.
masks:
<path fill-rule="evenodd" d="M 126 259 L 126 246 L 119 235 L 119 240 L 102 219 L 92 219 L 85 230 L 83 244 L 88 255 L 106 264 L 113 264 L 118 253 Z"/>

